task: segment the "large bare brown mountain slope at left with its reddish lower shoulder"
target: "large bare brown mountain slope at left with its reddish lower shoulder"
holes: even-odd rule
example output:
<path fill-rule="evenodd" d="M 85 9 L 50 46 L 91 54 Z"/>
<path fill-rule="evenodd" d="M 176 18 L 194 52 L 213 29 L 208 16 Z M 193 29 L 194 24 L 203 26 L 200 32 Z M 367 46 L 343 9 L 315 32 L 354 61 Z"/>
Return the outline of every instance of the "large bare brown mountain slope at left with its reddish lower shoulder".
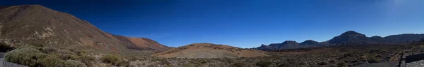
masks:
<path fill-rule="evenodd" d="M 168 49 L 147 38 L 124 37 L 129 41 L 123 41 L 86 20 L 40 5 L 3 6 L 0 12 L 0 41 L 13 46 L 39 44 L 67 49 L 89 47 L 113 52 L 129 50 L 131 47 L 128 45 Z"/>

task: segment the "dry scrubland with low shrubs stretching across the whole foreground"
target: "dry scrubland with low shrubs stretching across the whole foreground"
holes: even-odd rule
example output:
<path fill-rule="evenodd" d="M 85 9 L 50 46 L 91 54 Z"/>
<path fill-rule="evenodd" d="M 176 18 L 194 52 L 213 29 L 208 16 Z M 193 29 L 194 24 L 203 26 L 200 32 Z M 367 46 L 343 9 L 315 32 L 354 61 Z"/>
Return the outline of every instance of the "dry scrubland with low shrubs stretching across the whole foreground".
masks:
<path fill-rule="evenodd" d="M 413 43 L 269 51 L 267 54 L 270 56 L 267 57 L 187 59 L 150 57 L 153 52 L 102 53 L 28 45 L 6 53 L 5 60 L 27 66 L 45 67 L 345 67 L 397 61 L 402 52 L 412 54 L 423 51 L 424 43 Z"/>

